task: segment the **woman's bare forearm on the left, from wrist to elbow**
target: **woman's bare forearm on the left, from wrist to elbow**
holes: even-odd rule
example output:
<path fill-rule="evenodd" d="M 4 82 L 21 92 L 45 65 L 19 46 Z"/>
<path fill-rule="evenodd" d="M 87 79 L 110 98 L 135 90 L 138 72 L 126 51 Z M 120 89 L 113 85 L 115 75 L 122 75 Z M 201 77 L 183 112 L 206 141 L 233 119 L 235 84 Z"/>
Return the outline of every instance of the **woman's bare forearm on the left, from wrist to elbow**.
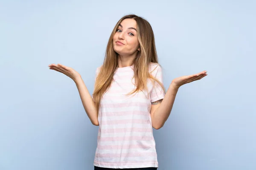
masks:
<path fill-rule="evenodd" d="M 87 113 L 87 116 L 89 117 L 93 125 L 98 126 L 98 111 L 96 110 L 96 105 L 94 104 L 93 99 L 86 85 L 84 84 L 83 79 L 79 77 L 78 79 L 74 80 L 74 82 L 76 83 L 76 87 L 79 91 L 79 95 L 84 106 L 84 109 Z"/>

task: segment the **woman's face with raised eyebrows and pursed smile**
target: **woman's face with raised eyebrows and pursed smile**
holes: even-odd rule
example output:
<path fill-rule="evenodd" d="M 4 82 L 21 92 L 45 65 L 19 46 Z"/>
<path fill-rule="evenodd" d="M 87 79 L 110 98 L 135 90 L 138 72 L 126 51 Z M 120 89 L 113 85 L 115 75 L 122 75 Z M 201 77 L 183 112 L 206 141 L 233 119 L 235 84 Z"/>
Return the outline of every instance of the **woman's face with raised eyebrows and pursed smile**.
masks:
<path fill-rule="evenodd" d="M 113 48 L 120 55 L 134 54 L 139 48 L 137 23 L 134 19 L 123 20 L 113 37 Z"/>

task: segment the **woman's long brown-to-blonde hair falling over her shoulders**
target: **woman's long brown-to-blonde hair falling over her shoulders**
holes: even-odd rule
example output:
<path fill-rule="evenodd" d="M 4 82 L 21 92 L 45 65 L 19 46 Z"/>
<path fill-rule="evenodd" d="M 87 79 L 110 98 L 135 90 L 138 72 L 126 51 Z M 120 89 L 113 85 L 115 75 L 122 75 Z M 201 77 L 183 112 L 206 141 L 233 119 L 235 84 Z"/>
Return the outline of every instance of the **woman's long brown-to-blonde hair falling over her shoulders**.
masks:
<path fill-rule="evenodd" d="M 151 80 L 151 82 L 156 81 L 166 93 L 164 85 L 156 78 L 154 78 L 148 71 L 149 64 L 151 62 L 158 63 L 154 33 L 151 25 L 148 23 L 147 20 L 143 19 L 142 17 L 138 17 L 137 15 L 125 15 L 116 23 L 116 26 L 111 33 L 111 36 L 108 40 L 103 65 L 100 68 L 98 76 L 96 77 L 93 91 L 93 100 L 95 102 L 97 111 L 99 111 L 100 100 L 103 94 L 108 90 L 108 88 L 110 88 L 113 81 L 113 75 L 116 71 L 116 68 L 118 67 L 118 54 L 116 53 L 116 51 L 114 51 L 113 48 L 113 37 L 116 33 L 116 30 L 118 29 L 119 24 L 127 18 L 134 19 L 137 22 L 137 36 L 140 44 L 140 51 L 138 52 L 137 57 L 135 57 L 131 61 L 131 64 L 134 65 L 133 78 L 135 78 L 134 82 L 136 88 L 127 95 L 137 93 L 138 91 L 142 91 L 144 89 L 146 89 L 148 93 L 148 78 Z M 161 65 L 159 66 L 161 67 Z"/>

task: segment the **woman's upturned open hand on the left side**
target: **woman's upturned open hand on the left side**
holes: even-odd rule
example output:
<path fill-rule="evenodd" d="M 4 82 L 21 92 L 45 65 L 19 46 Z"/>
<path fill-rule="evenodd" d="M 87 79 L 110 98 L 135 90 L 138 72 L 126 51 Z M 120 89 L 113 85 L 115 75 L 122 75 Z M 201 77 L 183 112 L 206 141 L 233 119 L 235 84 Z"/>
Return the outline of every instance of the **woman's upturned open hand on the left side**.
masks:
<path fill-rule="evenodd" d="M 78 78 L 81 78 L 81 75 L 71 67 L 67 67 L 67 66 L 61 65 L 61 64 L 57 64 L 57 65 L 50 64 L 50 65 L 48 65 L 48 67 L 51 70 L 55 70 L 55 71 L 65 74 L 66 76 L 70 77 L 74 81 L 76 81 L 76 79 L 78 79 Z"/>

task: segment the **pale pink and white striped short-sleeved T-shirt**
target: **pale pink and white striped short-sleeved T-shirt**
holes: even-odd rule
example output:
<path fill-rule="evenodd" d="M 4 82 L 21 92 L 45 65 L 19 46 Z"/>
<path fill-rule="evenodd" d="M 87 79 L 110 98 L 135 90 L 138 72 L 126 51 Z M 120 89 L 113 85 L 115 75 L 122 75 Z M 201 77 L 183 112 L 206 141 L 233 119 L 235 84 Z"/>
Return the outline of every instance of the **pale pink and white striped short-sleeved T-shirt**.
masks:
<path fill-rule="evenodd" d="M 117 68 L 111 87 L 102 96 L 94 166 L 158 167 L 150 109 L 151 102 L 163 99 L 165 93 L 156 82 L 153 89 L 148 80 L 148 98 L 146 90 L 125 96 L 135 88 L 132 68 Z M 152 76 L 163 82 L 162 68 L 157 63 L 151 63 L 149 69 Z M 95 78 L 99 71 L 100 67 Z"/>

